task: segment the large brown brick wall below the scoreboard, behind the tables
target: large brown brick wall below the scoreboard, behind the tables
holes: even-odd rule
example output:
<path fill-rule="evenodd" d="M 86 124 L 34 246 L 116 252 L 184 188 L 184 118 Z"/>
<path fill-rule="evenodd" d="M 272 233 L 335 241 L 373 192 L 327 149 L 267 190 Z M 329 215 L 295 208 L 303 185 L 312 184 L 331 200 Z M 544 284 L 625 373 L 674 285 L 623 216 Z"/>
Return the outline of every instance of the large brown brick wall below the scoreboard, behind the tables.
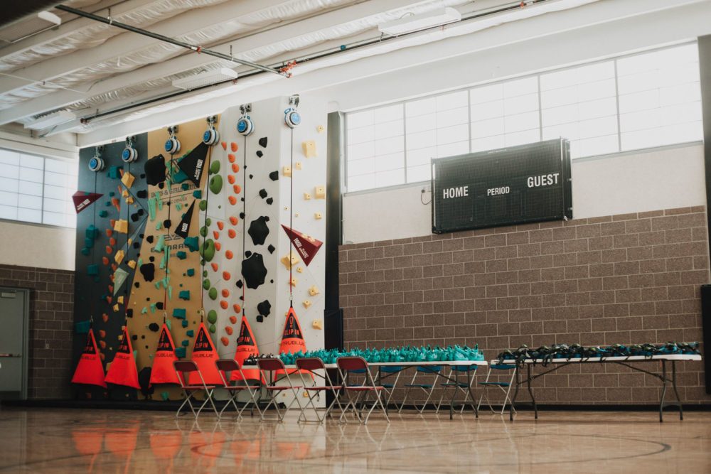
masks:
<path fill-rule="evenodd" d="M 478 343 L 506 348 L 701 341 L 710 280 L 704 207 L 343 245 L 347 347 Z M 655 367 L 650 364 L 650 369 Z M 680 396 L 709 404 L 702 362 L 678 366 Z M 657 379 L 616 365 L 535 382 L 552 404 L 658 401 Z"/>

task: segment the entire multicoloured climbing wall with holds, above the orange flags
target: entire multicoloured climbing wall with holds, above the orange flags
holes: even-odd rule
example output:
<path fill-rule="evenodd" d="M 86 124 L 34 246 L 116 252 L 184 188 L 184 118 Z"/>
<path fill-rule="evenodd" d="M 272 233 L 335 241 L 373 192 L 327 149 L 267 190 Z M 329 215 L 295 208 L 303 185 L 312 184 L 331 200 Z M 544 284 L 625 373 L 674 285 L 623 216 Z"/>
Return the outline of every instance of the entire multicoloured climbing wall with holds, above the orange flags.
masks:
<path fill-rule="evenodd" d="M 77 269 L 88 269 L 92 259 L 100 259 L 91 267 L 99 269 L 99 274 L 85 272 L 83 280 L 95 290 L 87 293 L 77 285 L 77 296 L 84 299 L 75 300 L 77 322 L 85 321 L 89 313 L 107 316 L 95 321 L 95 331 L 103 331 L 97 339 L 105 361 L 112 360 L 122 327 L 127 325 L 139 374 L 145 379 L 164 321 L 178 357 L 192 357 L 201 321 L 218 357 L 233 357 L 242 315 L 260 352 L 276 354 L 287 321 L 290 288 L 305 347 L 323 347 L 326 252 L 319 246 L 326 232 L 326 103 L 301 99 L 297 107 L 301 123 L 294 129 L 284 124 L 284 110 L 294 107 L 288 97 L 251 105 L 249 116 L 255 131 L 250 136 L 237 133 L 242 117 L 237 107 L 218 117 L 215 128 L 220 138 L 213 146 L 202 142 L 208 126 L 205 119 L 178 124 L 175 137 L 181 150 L 172 155 L 164 148 L 169 139 L 166 129 L 141 136 L 140 158 L 130 170 L 134 176 L 131 188 L 125 183 L 119 186 L 121 170 L 109 169 L 109 163 L 104 173 L 91 173 L 87 168 L 83 173 L 87 176 L 80 176 L 81 183 L 97 178 L 103 183 L 97 192 L 106 193 L 95 203 L 97 211 L 107 210 L 100 217 L 106 222 L 92 230 L 98 232 L 95 244 L 86 255 L 81 252 L 85 247 L 77 249 Z M 118 153 L 122 163 L 123 146 L 106 146 L 105 156 L 109 150 Z M 94 152 L 82 150 L 82 166 Z M 194 169 L 186 165 L 196 159 L 203 160 L 199 185 L 193 183 Z M 124 196 L 126 189 L 128 196 Z M 93 192 L 93 188 L 86 190 Z M 127 197 L 133 202 L 126 203 Z M 88 216 L 92 210 L 85 212 Z M 112 237 L 105 227 L 112 225 L 112 219 L 120 220 L 119 215 L 127 222 L 127 232 L 113 242 L 112 257 L 104 249 L 104 240 Z M 291 239 L 286 232 L 289 227 L 294 230 Z M 92 232 L 80 230 L 82 238 L 77 242 L 90 244 L 83 235 Z M 114 232 L 109 234 L 115 239 Z M 120 264 L 115 261 L 119 247 L 124 250 Z M 119 306 L 117 297 L 108 296 L 116 288 L 111 287 L 117 271 L 112 264 L 126 271 Z M 145 392 L 154 399 L 179 397 L 174 387 L 163 384 Z"/>

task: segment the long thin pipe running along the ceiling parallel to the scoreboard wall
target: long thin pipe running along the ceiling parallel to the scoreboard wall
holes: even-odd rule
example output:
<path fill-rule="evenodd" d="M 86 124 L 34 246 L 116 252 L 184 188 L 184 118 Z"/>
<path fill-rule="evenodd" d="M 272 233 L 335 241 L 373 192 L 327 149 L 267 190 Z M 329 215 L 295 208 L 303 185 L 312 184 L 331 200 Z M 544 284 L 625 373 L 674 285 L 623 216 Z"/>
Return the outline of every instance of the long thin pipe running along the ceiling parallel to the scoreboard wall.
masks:
<path fill-rule="evenodd" d="M 543 2 L 545 2 L 545 1 L 547 1 L 547 0 L 529 0 L 529 1 L 526 2 L 526 3 L 533 5 L 533 4 L 540 4 L 540 3 L 543 3 Z M 57 8 L 59 8 L 59 7 L 57 7 Z M 521 8 L 520 3 L 515 2 L 515 4 L 510 4 L 510 5 L 507 5 L 507 6 L 502 6 L 501 8 L 498 8 L 498 9 L 496 9 L 496 10 L 487 11 L 486 13 L 483 13 L 483 14 L 471 14 L 471 15 L 469 15 L 469 16 L 466 16 L 466 17 L 464 17 L 464 18 L 461 18 L 460 21 L 456 21 L 456 22 L 454 22 L 454 23 L 449 23 L 449 24 L 450 24 L 450 25 L 453 25 L 453 24 L 457 24 L 457 23 L 463 23 L 463 22 L 465 22 L 465 21 L 472 21 L 472 20 L 476 20 L 476 19 L 479 19 L 479 18 L 483 18 L 483 17 L 489 16 L 489 15 L 499 14 L 499 13 L 502 13 L 502 12 L 504 12 L 504 11 L 510 11 L 510 10 L 520 9 L 520 8 Z M 83 13 L 83 12 L 82 12 L 82 13 Z M 103 18 L 102 18 L 102 19 L 103 19 Z M 116 23 L 113 23 L 113 24 L 115 25 Z M 433 29 L 436 29 L 436 28 L 442 28 L 442 27 L 441 27 L 441 26 L 432 26 L 432 27 L 430 27 L 430 28 L 424 28 L 423 30 L 412 31 L 411 33 L 403 33 L 403 34 L 398 35 L 398 36 L 386 36 L 386 37 L 378 36 L 378 38 L 373 38 L 373 39 L 370 39 L 370 40 L 360 41 L 360 43 L 356 43 L 356 44 L 354 44 L 354 45 L 350 45 L 350 46 L 345 47 L 345 48 L 342 47 L 342 48 L 333 49 L 333 50 L 326 50 L 326 51 L 324 51 L 323 53 L 317 53 L 317 54 L 308 56 L 308 57 L 306 57 L 306 58 L 296 59 L 296 60 L 294 60 L 294 61 L 292 62 L 292 65 L 304 64 L 304 63 L 307 63 L 307 62 L 309 62 L 309 61 L 313 61 L 313 60 L 317 60 L 317 59 L 321 59 L 321 58 L 327 58 L 328 56 L 337 55 L 337 54 L 339 54 L 339 53 L 345 53 L 346 51 L 352 51 L 352 50 L 355 50 L 355 49 L 358 49 L 358 48 L 363 48 L 363 47 L 365 47 L 365 46 L 370 46 L 370 45 L 374 45 L 374 44 L 378 44 L 378 43 L 384 43 L 385 41 L 395 40 L 395 39 L 398 39 L 398 38 L 405 38 L 406 36 L 410 36 L 410 35 L 415 34 L 415 33 L 422 33 L 422 31 L 429 31 L 429 30 L 433 30 Z M 204 53 L 204 52 L 205 52 L 205 50 L 203 50 L 203 53 Z M 229 59 L 229 58 L 228 58 L 228 59 Z M 246 64 L 246 63 L 247 63 L 247 62 L 245 61 L 245 64 Z M 251 65 L 251 64 L 246 64 L 246 65 Z M 255 65 L 255 66 L 258 66 L 258 65 Z M 259 67 L 258 67 L 258 69 L 262 69 L 262 70 L 263 70 L 263 68 L 264 68 L 264 66 L 259 66 Z M 267 68 L 267 69 L 269 69 L 269 68 Z M 270 70 L 270 72 L 272 72 L 272 71 L 273 71 L 273 70 Z M 245 74 L 240 74 L 240 78 L 252 77 L 252 76 L 255 76 L 255 75 L 259 75 L 259 74 L 261 74 L 261 72 L 259 72 L 259 71 L 247 72 L 247 73 L 245 73 Z M 191 92 L 196 92 L 197 90 L 207 89 L 208 87 L 215 87 L 216 85 L 222 85 L 222 84 L 226 84 L 226 83 L 228 83 L 228 82 L 232 82 L 232 80 L 231 80 L 231 79 L 227 79 L 227 80 L 223 80 L 223 81 L 220 81 L 220 82 L 215 82 L 215 83 L 213 83 L 213 84 L 203 85 L 203 86 L 200 86 L 200 87 L 194 87 L 194 88 L 191 89 L 191 90 L 181 90 L 181 91 L 178 91 L 178 92 L 173 92 L 173 93 L 171 93 L 171 94 L 161 95 L 161 97 L 155 97 L 154 99 L 146 99 L 146 100 L 144 100 L 144 101 L 142 101 L 142 102 L 137 102 L 137 103 L 134 103 L 134 104 L 130 104 L 130 105 L 127 105 L 127 106 L 125 106 L 125 107 L 119 107 L 119 108 L 117 108 L 117 109 L 111 109 L 111 110 L 107 110 L 107 111 L 105 111 L 105 112 L 100 112 L 100 113 L 94 114 L 94 115 L 92 115 L 92 116 L 90 116 L 90 117 L 82 117 L 81 122 L 87 124 L 87 123 L 89 123 L 92 119 L 98 119 L 98 118 L 100 118 L 100 117 L 106 117 L 107 115 L 117 114 L 117 113 L 119 113 L 119 112 L 126 112 L 127 110 L 130 110 L 130 109 L 135 109 L 135 108 L 137 108 L 137 107 L 142 107 L 142 106 L 144 106 L 144 105 L 154 104 L 155 102 L 160 102 L 161 100 L 171 99 L 171 98 L 173 98 L 173 97 L 179 97 L 179 96 L 181 96 L 181 95 L 186 95 L 186 94 L 191 93 Z"/>

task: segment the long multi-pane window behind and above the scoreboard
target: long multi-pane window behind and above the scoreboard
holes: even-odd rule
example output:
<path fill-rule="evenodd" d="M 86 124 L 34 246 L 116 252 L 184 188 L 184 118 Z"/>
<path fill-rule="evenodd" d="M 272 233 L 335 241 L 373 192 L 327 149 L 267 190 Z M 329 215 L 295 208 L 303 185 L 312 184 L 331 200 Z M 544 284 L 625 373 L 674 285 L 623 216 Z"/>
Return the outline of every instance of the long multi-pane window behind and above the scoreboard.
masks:
<path fill-rule="evenodd" d="M 430 178 L 430 159 L 564 137 L 572 158 L 703 139 L 696 43 L 346 114 L 348 192 Z"/>

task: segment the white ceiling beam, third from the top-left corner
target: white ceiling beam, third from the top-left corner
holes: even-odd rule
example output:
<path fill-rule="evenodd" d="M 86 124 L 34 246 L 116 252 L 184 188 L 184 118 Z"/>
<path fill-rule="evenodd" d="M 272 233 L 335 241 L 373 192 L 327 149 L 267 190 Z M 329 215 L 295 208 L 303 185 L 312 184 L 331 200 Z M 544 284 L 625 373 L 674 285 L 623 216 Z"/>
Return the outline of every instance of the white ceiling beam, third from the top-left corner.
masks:
<path fill-rule="evenodd" d="M 422 4 L 422 0 L 414 2 L 412 0 L 389 0 L 387 7 L 388 10 L 393 10 L 405 8 L 413 4 Z M 250 36 L 246 36 L 245 38 L 238 38 L 237 40 L 213 46 L 211 49 L 228 54 L 230 51 L 230 45 L 232 45 L 235 56 L 239 56 L 264 45 L 279 43 L 298 36 L 304 36 L 304 31 L 322 31 L 326 28 L 333 28 L 335 26 L 342 25 L 343 23 L 348 23 L 349 21 L 353 21 L 355 18 L 365 18 L 382 13 L 382 1 L 369 0 L 361 4 L 356 4 L 355 6 L 348 6 L 343 9 L 327 12 L 326 14 L 306 18 L 303 21 L 296 21 L 277 28 L 271 28 L 268 31 L 255 33 Z M 353 41 L 353 38 L 348 38 L 348 40 Z M 343 40 L 340 40 L 340 43 L 343 43 Z M 298 53 L 299 55 L 304 54 L 301 50 Z M 292 53 L 289 57 L 294 57 L 294 54 Z M 213 58 L 208 58 L 198 54 L 181 55 L 178 56 L 178 58 L 172 58 L 163 61 L 162 63 L 146 65 L 143 68 L 139 68 L 132 72 L 124 72 L 123 74 L 109 77 L 106 80 L 102 80 L 97 82 L 95 85 L 92 85 L 86 93 L 75 90 L 60 90 L 48 95 L 29 99 L 25 102 L 17 104 L 14 107 L 11 107 L 10 109 L 0 111 L 0 124 L 15 122 L 16 120 L 24 117 L 41 114 L 42 112 L 58 109 L 60 107 L 66 107 L 74 102 L 78 102 L 88 97 L 102 95 L 107 92 L 118 90 L 122 87 L 137 85 L 141 82 L 156 80 L 178 72 L 197 68 L 205 63 L 214 63 L 215 61 L 216 60 Z M 274 63 L 274 60 L 270 59 L 269 63 Z M 156 95 L 158 92 L 159 91 L 153 92 L 153 95 Z M 120 105 L 114 103 L 112 107 L 120 107 Z"/>

